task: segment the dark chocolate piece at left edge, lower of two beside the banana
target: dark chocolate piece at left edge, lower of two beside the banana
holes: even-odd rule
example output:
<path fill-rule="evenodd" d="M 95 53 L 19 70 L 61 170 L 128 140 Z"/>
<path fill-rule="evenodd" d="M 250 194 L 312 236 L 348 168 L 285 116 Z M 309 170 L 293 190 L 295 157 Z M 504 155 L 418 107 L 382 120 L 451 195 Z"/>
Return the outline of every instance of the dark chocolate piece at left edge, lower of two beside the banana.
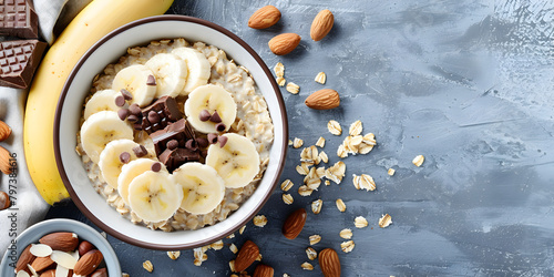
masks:
<path fill-rule="evenodd" d="M 45 49 L 38 40 L 0 42 L 0 85 L 27 89 Z"/>

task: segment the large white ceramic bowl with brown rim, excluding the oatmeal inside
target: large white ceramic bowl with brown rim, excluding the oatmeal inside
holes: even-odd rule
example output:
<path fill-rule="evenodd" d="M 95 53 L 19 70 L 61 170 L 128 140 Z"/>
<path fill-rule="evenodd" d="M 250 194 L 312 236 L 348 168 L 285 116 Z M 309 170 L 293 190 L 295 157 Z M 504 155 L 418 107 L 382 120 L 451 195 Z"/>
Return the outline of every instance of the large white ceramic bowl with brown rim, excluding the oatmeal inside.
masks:
<path fill-rule="evenodd" d="M 75 153 L 82 104 L 94 75 L 125 54 L 129 47 L 145 45 L 152 40 L 184 38 L 203 41 L 227 52 L 229 59 L 246 66 L 268 103 L 275 140 L 269 165 L 255 193 L 227 217 L 198 230 L 164 233 L 134 225 L 123 218 L 99 195 Z M 65 187 L 81 212 L 110 235 L 145 248 L 193 248 L 224 238 L 245 225 L 271 195 L 285 164 L 288 123 L 285 103 L 271 72 L 256 52 L 237 35 L 212 22 L 184 17 L 160 16 L 134 21 L 116 29 L 94 44 L 69 76 L 58 103 L 54 123 L 54 150 L 58 168 Z"/>

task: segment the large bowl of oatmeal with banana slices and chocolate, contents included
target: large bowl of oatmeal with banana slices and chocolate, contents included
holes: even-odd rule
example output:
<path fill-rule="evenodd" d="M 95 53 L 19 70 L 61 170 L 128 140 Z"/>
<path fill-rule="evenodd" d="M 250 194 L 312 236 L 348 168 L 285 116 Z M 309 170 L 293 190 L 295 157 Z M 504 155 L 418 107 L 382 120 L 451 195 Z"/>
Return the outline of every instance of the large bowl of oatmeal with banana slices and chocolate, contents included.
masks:
<path fill-rule="evenodd" d="M 144 33 L 155 39 L 135 37 Z M 277 85 L 246 43 L 203 20 L 162 16 L 85 54 L 62 93 L 54 147 L 72 198 L 101 228 L 143 247 L 189 248 L 227 236 L 267 201 L 286 124 Z"/>

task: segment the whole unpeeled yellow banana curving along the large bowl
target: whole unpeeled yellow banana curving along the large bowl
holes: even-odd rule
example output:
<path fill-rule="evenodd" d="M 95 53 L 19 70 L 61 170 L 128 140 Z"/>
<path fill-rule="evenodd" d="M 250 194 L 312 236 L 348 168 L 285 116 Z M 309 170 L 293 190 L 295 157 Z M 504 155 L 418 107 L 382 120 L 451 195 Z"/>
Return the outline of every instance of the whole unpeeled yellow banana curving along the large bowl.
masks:
<path fill-rule="evenodd" d="M 53 124 L 63 84 L 84 52 L 102 37 L 131 21 L 158 16 L 173 0 L 93 0 L 47 52 L 27 100 L 23 140 L 27 166 L 50 205 L 69 197 L 54 157 Z"/>

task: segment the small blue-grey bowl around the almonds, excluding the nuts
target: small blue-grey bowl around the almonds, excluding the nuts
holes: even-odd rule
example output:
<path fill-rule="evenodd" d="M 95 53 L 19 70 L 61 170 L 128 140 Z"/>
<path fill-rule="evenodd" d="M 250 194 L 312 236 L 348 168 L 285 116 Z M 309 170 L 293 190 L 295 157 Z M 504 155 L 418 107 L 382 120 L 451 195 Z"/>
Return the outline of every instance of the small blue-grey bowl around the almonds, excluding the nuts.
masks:
<path fill-rule="evenodd" d="M 50 219 L 34 224 L 23 230 L 16 239 L 16 248 L 10 245 L 6 250 L 0 264 L 0 276 L 16 276 L 10 264 L 17 264 L 17 258 L 21 252 L 30 244 L 39 243 L 39 239 L 50 233 L 71 232 L 75 233 L 80 239 L 88 240 L 99 249 L 104 256 L 109 276 L 121 276 L 121 266 L 117 256 L 113 252 L 107 240 L 91 226 L 73 219 Z"/>

